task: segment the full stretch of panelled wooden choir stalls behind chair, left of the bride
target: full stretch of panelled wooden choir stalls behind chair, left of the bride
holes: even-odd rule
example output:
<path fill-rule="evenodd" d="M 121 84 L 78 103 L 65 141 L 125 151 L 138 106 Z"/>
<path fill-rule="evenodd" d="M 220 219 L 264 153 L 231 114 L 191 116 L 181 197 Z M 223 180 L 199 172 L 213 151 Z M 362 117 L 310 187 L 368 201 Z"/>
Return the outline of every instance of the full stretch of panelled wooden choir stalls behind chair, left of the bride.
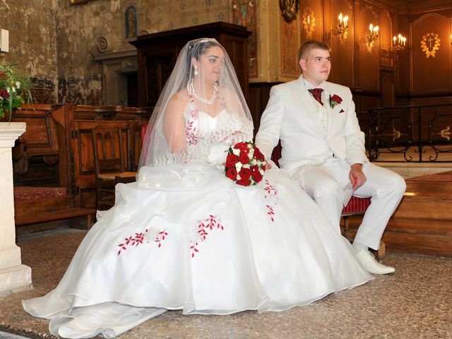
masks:
<path fill-rule="evenodd" d="M 16 234 L 90 227 L 96 213 L 93 129 L 121 129 L 124 167 L 134 171 L 149 117 L 134 107 L 22 105 L 13 117 L 27 124 L 13 148 Z M 49 193 L 61 189 L 64 195 Z"/>

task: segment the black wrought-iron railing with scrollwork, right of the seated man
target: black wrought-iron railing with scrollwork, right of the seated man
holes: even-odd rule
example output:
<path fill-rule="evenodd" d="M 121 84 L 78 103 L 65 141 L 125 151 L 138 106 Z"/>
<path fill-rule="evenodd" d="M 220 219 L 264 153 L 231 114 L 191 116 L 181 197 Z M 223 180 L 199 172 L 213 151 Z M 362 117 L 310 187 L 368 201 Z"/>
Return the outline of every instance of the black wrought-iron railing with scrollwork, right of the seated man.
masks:
<path fill-rule="evenodd" d="M 359 116 L 371 161 L 452 162 L 451 104 L 375 108 Z"/>

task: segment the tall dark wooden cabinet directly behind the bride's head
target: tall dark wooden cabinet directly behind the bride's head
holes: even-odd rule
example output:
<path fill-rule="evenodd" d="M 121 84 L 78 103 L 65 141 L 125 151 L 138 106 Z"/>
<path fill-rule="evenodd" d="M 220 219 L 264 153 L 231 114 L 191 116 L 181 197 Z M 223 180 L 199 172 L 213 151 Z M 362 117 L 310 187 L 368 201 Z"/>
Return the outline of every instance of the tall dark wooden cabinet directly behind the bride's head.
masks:
<path fill-rule="evenodd" d="M 141 107 L 154 107 L 169 75 L 176 64 L 182 47 L 190 40 L 214 37 L 229 55 L 244 97 L 248 100 L 248 37 L 244 26 L 232 23 L 207 23 L 141 35 L 131 42 L 138 56 L 138 103 Z"/>

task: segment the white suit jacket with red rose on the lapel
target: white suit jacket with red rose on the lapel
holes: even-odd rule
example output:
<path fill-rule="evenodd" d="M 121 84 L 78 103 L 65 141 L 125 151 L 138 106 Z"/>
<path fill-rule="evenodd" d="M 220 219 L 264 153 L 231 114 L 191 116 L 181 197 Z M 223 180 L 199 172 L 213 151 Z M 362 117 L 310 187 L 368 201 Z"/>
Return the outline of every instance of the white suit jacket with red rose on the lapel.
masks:
<path fill-rule="evenodd" d="M 295 81 L 275 85 L 261 117 L 256 145 L 266 159 L 278 140 L 283 146 L 280 166 L 292 174 L 311 165 L 321 165 L 331 151 L 340 164 L 350 168 L 354 163 L 369 162 L 365 155 L 364 133 L 359 129 L 355 103 L 350 89 L 323 82 L 323 106 L 327 109 L 328 129 L 325 131 L 319 117 L 319 104 L 308 92 L 302 76 Z M 334 108 L 330 96 L 342 98 Z"/>

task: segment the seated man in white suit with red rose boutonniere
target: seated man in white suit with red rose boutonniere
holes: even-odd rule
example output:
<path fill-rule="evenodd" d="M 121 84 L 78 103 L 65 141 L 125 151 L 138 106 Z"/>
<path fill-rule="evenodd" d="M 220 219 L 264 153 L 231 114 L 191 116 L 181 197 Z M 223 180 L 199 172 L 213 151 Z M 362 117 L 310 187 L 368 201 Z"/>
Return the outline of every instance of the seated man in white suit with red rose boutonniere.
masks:
<path fill-rule="evenodd" d="M 405 192 L 405 181 L 369 163 L 350 89 L 326 81 L 331 71 L 328 45 L 317 40 L 304 42 L 299 65 L 302 76 L 270 90 L 256 145 L 270 160 L 281 141 L 280 166 L 314 198 L 338 232 L 340 213 L 350 197 L 370 196 L 371 205 L 353 247 L 370 273 L 392 273 L 394 268 L 376 261 L 368 249 L 379 248 L 386 224 Z"/>

